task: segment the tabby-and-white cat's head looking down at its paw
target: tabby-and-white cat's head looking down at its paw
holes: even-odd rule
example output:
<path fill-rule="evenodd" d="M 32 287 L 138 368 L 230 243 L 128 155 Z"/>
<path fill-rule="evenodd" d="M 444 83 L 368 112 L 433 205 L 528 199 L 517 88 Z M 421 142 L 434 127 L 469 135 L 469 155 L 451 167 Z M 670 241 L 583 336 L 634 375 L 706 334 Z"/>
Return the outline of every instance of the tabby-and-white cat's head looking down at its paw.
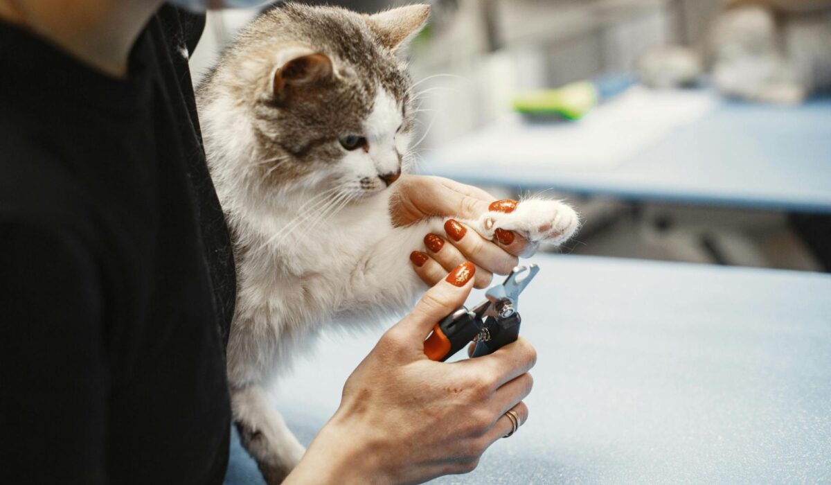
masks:
<path fill-rule="evenodd" d="M 287 4 L 253 21 L 200 89 L 214 111 L 250 123 L 253 146 L 238 147 L 249 151 L 238 168 L 267 189 L 371 195 L 396 181 L 415 121 L 402 53 L 429 12 Z M 234 126 L 219 129 L 233 145 Z"/>

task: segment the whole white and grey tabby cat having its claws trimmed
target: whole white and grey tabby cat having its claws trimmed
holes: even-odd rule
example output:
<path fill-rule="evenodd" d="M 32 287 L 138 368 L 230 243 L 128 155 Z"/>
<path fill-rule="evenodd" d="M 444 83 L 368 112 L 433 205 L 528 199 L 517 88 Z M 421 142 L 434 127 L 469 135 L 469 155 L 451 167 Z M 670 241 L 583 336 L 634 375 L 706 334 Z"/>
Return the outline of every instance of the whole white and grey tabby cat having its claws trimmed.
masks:
<path fill-rule="evenodd" d="M 443 220 L 394 227 L 389 207 L 416 114 L 400 58 L 429 11 L 273 8 L 199 87 L 238 271 L 228 348 L 234 421 L 269 483 L 304 452 L 268 398 L 293 354 L 327 324 L 376 321 L 426 288 L 409 255 Z M 558 245 L 578 216 L 558 201 L 524 200 L 466 223 L 489 239 L 501 228 Z"/>

